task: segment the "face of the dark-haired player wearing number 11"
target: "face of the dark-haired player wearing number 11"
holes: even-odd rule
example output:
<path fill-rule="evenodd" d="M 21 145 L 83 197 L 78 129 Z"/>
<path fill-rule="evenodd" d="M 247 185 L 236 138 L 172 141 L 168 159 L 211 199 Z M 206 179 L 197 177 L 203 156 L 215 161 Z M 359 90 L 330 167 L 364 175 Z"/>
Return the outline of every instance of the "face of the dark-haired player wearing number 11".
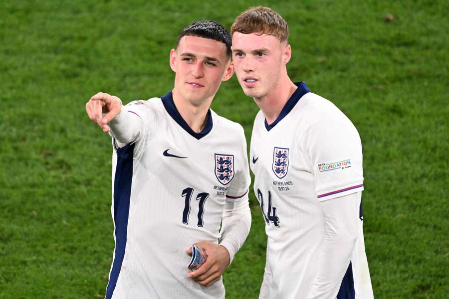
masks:
<path fill-rule="evenodd" d="M 170 66 L 176 73 L 173 92 L 195 106 L 212 101 L 222 81 L 234 72 L 224 43 L 197 36 L 181 38 L 170 52 Z"/>

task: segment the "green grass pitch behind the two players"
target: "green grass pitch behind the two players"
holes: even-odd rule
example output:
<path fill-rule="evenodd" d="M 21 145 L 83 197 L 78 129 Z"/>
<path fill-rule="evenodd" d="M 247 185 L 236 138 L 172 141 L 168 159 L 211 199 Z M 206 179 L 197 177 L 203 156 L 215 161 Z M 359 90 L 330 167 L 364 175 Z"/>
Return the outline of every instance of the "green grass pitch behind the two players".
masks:
<path fill-rule="evenodd" d="M 84 104 L 173 87 L 169 51 L 197 19 L 248 6 L 289 23 L 290 76 L 334 102 L 364 146 L 364 230 L 376 298 L 449 298 L 449 4 L 420 1 L 25 1 L 0 4 L 0 299 L 103 298 L 114 248 L 111 143 Z M 388 14 L 393 21 L 386 21 Z M 446 17 L 445 17 L 446 15 Z M 257 107 L 235 77 L 213 109 L 245 129 Z M 252 189 L 251 189 L 252 190 Z M 257 298 L 264 222 L 224 275 Z"/>

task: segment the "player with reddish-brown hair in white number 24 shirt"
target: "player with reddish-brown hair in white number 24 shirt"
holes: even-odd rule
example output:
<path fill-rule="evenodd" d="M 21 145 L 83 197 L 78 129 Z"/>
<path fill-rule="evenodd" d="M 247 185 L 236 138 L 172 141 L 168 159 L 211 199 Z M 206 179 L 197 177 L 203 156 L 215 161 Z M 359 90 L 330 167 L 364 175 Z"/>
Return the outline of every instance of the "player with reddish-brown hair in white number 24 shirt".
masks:
<path fill-rule="evenodd" d="M 334 104 L 290 80 L 288 35 L 285 20 L 261 6 L 231 27 L 238 82 L 260 108 L 250 145 L 268 236 L 259 298 L 373 298 L 360 137 Z"/>

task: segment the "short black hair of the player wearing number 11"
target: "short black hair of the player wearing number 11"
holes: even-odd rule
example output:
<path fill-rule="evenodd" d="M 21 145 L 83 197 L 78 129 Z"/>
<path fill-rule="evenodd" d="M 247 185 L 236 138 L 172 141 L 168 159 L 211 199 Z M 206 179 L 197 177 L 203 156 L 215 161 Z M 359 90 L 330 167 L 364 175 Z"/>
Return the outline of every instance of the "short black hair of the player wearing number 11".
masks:
<path fill-rule="evenodd" d="M 187 25 L 187 27 L 179 34 L 178 42 L 176 43 L 177 47 L 181 38 L 186 35 L 204 37 L 223 42 L 226 46 L 227 56 L 229 58 L 232 56 L 230 34 L 225 27 L 216 21 L 201 20 Z"/>

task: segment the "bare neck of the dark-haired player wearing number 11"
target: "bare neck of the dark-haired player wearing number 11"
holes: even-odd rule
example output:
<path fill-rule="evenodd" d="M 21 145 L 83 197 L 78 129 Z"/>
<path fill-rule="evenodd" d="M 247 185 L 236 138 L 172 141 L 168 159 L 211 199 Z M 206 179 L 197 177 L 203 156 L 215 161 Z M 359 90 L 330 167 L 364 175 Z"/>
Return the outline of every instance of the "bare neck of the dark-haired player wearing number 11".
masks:
<path fill-rule="evenodd" d="M 184 121 L 195 133 L 200 133 L 208 122 L 208 111 L 213 97 L 195 103 L 183 97 L 176 88 L 173 89 L 172 96 L 176 109 Z"/>

